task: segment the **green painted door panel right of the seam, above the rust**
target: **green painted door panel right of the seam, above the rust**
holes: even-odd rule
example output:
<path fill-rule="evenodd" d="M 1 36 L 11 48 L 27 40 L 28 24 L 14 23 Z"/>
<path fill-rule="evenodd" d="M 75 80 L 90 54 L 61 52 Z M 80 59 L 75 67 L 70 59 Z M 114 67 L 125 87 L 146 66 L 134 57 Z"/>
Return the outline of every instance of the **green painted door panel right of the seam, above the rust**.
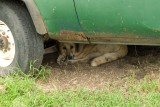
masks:
<path fill-rule="evenodd" d="M 125 34 L 126 38 L 160 38 L 160 0 L 75 2 L 80 23 L 88 36 L 103 33 L 106 37 L 107 34 L 113 37 Z"/>

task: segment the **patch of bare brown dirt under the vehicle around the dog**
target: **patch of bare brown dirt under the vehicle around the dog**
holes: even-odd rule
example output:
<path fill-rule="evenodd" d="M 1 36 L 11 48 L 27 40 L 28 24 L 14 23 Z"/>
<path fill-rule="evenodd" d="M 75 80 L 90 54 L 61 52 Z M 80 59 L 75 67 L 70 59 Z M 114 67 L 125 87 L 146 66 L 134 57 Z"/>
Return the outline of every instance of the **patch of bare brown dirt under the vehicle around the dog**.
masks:
<path fill-rule="evenodd" d="M 71 87 L 95 90 L 116 81 L 123 84 L 123 79 L 130 76 L 140 80 L 146 75 L 160 72 L 159 47 L 129 46 L 126 57 L 98 67 L 91 67 L 89 63 L 59 66 L 56 58 L 57 53 L 44 56 L 43 65 L 51 66 L 52 73 L 47 82 L 38 80 L 37 83 L 45 90 Z"/>

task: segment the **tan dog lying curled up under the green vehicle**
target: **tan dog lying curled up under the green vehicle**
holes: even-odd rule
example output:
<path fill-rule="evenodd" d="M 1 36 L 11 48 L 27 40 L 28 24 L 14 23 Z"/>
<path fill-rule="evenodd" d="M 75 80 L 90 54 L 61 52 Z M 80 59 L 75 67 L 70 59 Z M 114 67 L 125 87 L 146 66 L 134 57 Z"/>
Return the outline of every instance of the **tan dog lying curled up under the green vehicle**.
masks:
<path fill-rule="evenodd" d="M 126 56 L 127 45 L 114 44 L 74 44 L 59 43 L 59 65 L 91 61 L 91 66 L 98 66 Z"/>

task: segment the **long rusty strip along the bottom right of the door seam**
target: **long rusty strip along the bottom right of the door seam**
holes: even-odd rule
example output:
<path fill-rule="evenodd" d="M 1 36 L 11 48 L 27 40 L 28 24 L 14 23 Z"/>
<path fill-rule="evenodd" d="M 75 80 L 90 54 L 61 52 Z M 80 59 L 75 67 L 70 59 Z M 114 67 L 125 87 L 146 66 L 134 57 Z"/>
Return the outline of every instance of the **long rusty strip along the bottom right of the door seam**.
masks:
<path fill-rule="evenodd" d="M 160 45 L 160 38 L 144 38 L 143 35 L 137 34 L 96 34 L 89 36 L 92 43 L 116 43 L 132 45 Z"/>

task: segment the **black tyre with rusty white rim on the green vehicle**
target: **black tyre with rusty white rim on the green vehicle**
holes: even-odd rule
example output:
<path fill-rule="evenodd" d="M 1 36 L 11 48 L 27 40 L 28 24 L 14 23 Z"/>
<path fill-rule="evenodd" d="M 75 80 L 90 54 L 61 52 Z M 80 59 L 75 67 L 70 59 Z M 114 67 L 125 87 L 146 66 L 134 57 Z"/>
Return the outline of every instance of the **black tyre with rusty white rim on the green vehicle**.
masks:
<path fill-rule="evenodd" d="M 39 67 L 43 59 L 42 37 L 36 33 L 25 6 L 13 0 L 0 0 L 0 75 L 27 73 L 31 61 Z"/>

